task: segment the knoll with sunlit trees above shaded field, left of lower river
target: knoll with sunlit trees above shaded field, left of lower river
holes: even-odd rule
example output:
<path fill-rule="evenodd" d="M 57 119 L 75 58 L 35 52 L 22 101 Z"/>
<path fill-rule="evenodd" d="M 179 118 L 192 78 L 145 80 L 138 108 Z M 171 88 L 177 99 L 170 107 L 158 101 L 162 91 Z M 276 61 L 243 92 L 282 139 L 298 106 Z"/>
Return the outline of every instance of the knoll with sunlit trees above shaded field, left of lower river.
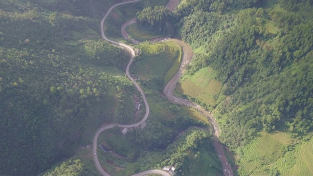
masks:
<path fill-rule="evenodd" d="M 221 174 L 218 156 L 211 148 L 209 132 L 191 128 L 166 149 L 162 166 L 174 166 L 179 176 Z M 205 140 L 200 140 L 200 139 Z M 202 141 L 202 142 L 201 142 Z M 178 146 L 179 145 L 179 146 Z"/>

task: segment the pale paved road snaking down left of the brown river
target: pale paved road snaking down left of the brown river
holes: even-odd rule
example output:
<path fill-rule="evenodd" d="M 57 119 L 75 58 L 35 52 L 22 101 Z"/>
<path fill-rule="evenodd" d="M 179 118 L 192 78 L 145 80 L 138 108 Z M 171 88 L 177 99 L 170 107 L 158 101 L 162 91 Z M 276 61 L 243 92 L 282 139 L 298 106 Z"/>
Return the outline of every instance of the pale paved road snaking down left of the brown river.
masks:
<path fill-rule="evenodd" d="M 112 43 L 112 44 L 115 44 L 115 45 L 118 45 L 118 46 L 122 46 L 123 48 L 126 48 L 128 49 L 132 56 L 131 56 L 131 60 L 130 62 L 128 63 L 127 67 L 126 67 L 126 75 L 127 77 L 130 79 L 130 80 L 133 80 L 133 83 L 135 85 L 135 87 L 140 91 L 141 93 L 141 96 L 142 96 L 142 99 L 145 103 L 145 107 L 146 107 L 146 113 L 143 117 L 143 119 L 138 122 L 138 123 L 135 123 L 135 124 L 130 124 L 130 125 L 121 125 L 121 124 L 112 124 L 112 125 L 107 125 L 103 128 L 100 128 L 96 134 L 94 135 L 94 138 L 93 138 L 93 160 L 95 162 L 95 165 L 97 167 L 97 169 L 99 170 L 99 172 L 104 175 L 104 176 L 110 176 L 105 170 L 103 170 L 103 168 L 101 167 L 100 165 L 100 162 L 98 160 L 98 156 L 96 155 L 97 153 L 97 139 L 98 139 L 98 136 L 101 132 L 105 131 L 105 130 L 108 130 L 108 129 L 111 129 L 113 128 L 114 126 L 118 126 L 118 127 L 123 127 L 123 128 L 133 128 L 133 127 L 137 127 L 139 126 L 140 124 L 142 124 L 148 117 L 149 115 L 149 106 L 148 106 L 148 103 L 147 103 L 147 100 L 146 100 L 146 97 L 145 97 L 145 94 L 143 93 L 142 89 L 138 86 L 138 84 L 134 81 L 134 79 L 131 77 L 131 75 L 129 74 L 129 67 L 131 66 L 133 60 L 134 60 L 134 56 L 135 56 L 135 52 L 134 52 L 134 49 L 132 47 L 130 47 L 129 45 L 126 45 L 126 44 L 121 44 L 121 43 L 118 43 L 118 42 L 115 42 L 115 41 L 112 41 L 110 39 L 108 39 L 105 35 L 104 35 L 104 31 L 103 31 L 103 23 L 105 21 L 105 19 L 107 18 L 107 16 L 109 15 L 109 13 L 111 12 L 111 10 L 118 6 L 118 5 L 122 5 L 122 4 L 126 4 L 126 3 L 131 3 L 131 2 L 136 2 L 136 1 L 139 1 L 139 0 L 132 0 L 132 1 L 128 1 L 128 2 L 122 2 L 122 3 L 118 3 L 118 4 L 115 4 L 113 5 L 109 11 L 107 12 L 107 14 L 103 17 L 102 21 L 101 21 L 101 36 L 104 40 Z M 162 176 L 171 176 L 170 174 L 168 174 L 167 172 L 165 171 L 162 171 L 162 170 L 149 170 L 149 171 L 145 171 L 145 172 L 142 172 L 142 173 L 139 173 L 139 174 L 135 174 L 133 176 L 145 176 L 145 175 L 148 175 L 148 174 L 160 174 Z"/>

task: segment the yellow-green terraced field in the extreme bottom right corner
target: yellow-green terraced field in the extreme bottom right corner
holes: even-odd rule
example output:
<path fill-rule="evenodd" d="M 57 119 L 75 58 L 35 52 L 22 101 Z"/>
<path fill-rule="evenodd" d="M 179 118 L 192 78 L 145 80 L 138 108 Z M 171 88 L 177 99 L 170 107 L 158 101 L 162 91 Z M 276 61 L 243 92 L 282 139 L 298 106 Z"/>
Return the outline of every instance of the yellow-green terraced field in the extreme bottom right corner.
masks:
<path fill-rule="evenodd" d="M 289 157 L 288 157 L 289 155 Z M 313 175 L 313 138 L 310 141 L 303 142 L 295 152 L 288 152 L 283 160 L 277 162 L 277 168 L 281 176 L 312 176 Z M 293 164 L 289 158 L 293 159 Z"/>

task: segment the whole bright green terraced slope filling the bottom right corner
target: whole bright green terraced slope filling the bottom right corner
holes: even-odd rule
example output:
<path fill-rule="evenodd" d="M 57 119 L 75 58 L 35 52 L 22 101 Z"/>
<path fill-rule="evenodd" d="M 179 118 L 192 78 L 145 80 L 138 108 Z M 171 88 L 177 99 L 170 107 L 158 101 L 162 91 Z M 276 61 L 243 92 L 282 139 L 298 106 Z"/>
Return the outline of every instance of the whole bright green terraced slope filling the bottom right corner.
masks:
<path fill-rule="evenodd" d="M 285 132 L 261 132 L 242 149 L 241 175 L 309 176 L 313 173 L 313 138 L 300 142 Z"/>

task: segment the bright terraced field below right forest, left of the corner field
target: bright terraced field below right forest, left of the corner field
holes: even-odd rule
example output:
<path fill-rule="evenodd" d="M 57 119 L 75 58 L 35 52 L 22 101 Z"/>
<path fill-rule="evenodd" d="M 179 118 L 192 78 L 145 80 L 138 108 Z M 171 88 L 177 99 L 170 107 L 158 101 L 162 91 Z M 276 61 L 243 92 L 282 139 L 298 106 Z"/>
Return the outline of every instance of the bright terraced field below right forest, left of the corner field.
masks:
<path fill-rule="evenodd" d="M 269 134 L 261 132 L 256 140 L 243 149 L 244 156 L 240 158 L 239 170 L 246 175 L 260 169 L 260 167 L 272 164 L 284 156 L 284 146 L 293 143 L 287 133 L 276 132 Z"/>

